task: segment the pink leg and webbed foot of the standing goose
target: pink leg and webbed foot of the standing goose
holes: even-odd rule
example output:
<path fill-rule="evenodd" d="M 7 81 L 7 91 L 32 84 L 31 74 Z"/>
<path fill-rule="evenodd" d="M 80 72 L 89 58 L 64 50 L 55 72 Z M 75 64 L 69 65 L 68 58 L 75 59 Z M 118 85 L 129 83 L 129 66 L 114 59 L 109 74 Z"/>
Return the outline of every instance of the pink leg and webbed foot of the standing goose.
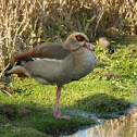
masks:
<path fill-rule="evenodd" d="M 58 89 L 57 89 L 57 101 L 55 101 L 55 107 L 53 109 L 53 115 L 57 117 L 57 119 L 66 119 L 66 120 L 70 120 L 71 116 L 68 115 L 62 115 L 59 113 L 59 101 L 60 101 L 60 96 L 61 96 L 61 87 L 58 86 Z"/>

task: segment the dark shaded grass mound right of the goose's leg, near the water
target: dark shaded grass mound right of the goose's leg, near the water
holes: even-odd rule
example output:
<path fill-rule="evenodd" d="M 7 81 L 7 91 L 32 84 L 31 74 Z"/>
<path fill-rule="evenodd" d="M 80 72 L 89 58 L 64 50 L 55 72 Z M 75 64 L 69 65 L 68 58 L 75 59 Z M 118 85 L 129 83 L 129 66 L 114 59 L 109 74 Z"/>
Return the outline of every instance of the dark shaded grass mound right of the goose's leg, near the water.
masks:
<path fill-rule="evenodd" d="M 130 107 L 130 102 L 123 98 L 115 98 L 107 94 L 95 94 L 94 96 L 77 100 L 73 108 L 79 110 L 97 113 L 100 116 L 110 113 L 123 114 L 123 112 Z"/>

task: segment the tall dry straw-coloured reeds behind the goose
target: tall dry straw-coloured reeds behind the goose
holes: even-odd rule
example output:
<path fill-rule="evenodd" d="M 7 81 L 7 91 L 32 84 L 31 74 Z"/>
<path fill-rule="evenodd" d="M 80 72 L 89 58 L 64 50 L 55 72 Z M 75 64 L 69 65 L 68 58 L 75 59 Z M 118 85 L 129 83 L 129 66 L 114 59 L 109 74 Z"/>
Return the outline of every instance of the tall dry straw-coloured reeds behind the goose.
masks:
<path fill-rule="evenodd" d="M 135 34 L 136 25 L 135 0 L 1 0 L 0 70 L 14 52 L 42 41 L 62 41 L 74 30 L 92 38 L 115 29 Z"/>

